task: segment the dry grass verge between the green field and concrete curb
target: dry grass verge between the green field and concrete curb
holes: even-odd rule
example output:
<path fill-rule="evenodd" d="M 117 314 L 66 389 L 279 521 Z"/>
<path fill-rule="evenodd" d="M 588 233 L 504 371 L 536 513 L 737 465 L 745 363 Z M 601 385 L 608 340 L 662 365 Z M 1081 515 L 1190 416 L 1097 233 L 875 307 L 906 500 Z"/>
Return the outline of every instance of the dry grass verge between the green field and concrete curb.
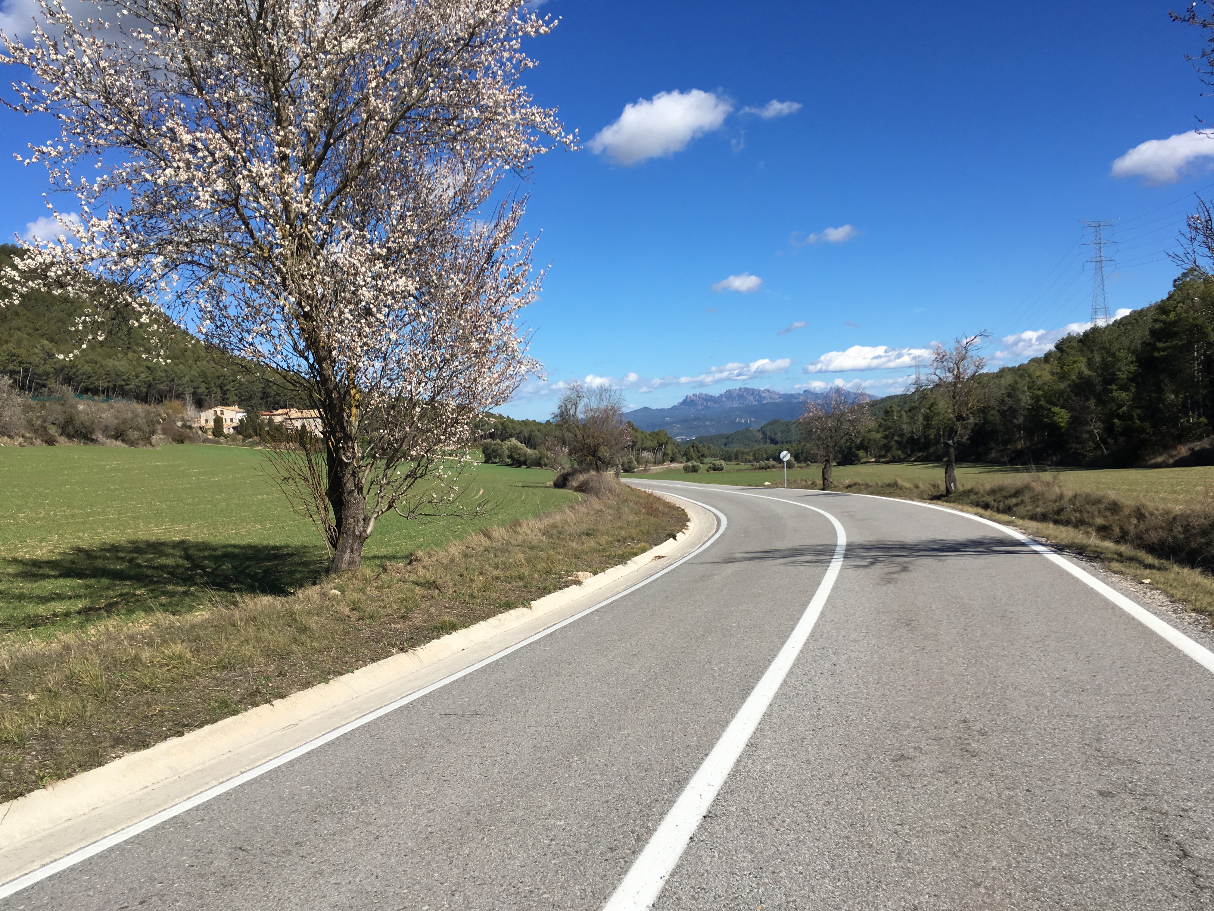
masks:
<path fill-rule="evenodd" d="M 683 527 L 677 507 L 617 487 L 291 595 L 104 621 L 51 641 L 7 636 L 0 799 L 526 605 Z"/>

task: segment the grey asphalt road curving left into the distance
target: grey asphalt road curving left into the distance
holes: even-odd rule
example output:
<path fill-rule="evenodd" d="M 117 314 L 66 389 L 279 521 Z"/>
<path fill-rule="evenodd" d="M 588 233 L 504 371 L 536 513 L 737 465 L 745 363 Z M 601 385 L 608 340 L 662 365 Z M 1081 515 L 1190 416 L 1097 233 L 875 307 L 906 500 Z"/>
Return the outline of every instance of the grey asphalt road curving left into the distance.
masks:
<path fill-rule="evenodd" d="M 658 909 L 1214 906 L 1214 675 L 964 516 L 728 517 L 645 588 L 4 909 L 599 909 L 807 640 Z M 647 855 L 648 856 L 648 855 Z"/>

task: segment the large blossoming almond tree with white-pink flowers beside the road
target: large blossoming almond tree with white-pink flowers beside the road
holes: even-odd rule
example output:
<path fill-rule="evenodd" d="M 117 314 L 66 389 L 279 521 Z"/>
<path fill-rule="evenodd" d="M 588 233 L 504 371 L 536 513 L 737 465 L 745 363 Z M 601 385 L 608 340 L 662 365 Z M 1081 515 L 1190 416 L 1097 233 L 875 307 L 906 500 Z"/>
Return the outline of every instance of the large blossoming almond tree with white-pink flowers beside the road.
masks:
<path fill-rule="evenodd" d="M 7 302 L 87 295 L 95 338 L 163 309 L 297 378 L 330 570 L 357 567 L 379 516 L 450 498 L 472 419 L 535 368 L 526 198 L 493 194 L 574 142 L 520 83 L 552 23 L 515 0 L 39 4 L 0 60 L 32 74 L 11 106 L 57 119 L 28 162 L 80 219 L 28 244 Z"/>

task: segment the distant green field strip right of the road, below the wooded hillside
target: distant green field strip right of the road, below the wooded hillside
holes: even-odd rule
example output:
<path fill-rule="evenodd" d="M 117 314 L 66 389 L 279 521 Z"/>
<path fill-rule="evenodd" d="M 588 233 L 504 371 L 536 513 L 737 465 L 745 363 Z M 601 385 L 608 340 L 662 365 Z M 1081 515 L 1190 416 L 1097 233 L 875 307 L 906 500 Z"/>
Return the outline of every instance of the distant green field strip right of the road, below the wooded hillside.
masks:
<path fill-rule="evenodd" d="M 1023 480 L 1034 474 L 1022 468 L 1004 465 L 961 464 L 957 466 L 957 480 L 960 485 L 1008 483 Z M 1197 507 L 1207 504 L 1214 508 L 1214 466 L 1207 468 L 1113 468 L 1048 469 L 1039 473 L 1040 477 L 1057 480 L 1065 487 L 1077 491 L 1110 493 L 1123 500 L 1139 500 L 1167 507 Z M 778 487 L 784 481 L 783 471 L 751 471 L 744 466 L 730 465 L 725 471 L 683 473 L 654 471 L 629 477 L 660 477 L 666 480 L 696 481 L 699 483 L 737 483 L 761 487 L 765 481 Z M 788 479 L 794 477 L 818 481 L 822 469 L 807 465 L 793 469 Z M 841 465 L 834 469 L 835 483 L 841 481 L 868 481 L 880 483 L 895 477 L 906 483 L 942 483 L 944 466 L 940 462 L 903 462 L 897 464 Z"/>

